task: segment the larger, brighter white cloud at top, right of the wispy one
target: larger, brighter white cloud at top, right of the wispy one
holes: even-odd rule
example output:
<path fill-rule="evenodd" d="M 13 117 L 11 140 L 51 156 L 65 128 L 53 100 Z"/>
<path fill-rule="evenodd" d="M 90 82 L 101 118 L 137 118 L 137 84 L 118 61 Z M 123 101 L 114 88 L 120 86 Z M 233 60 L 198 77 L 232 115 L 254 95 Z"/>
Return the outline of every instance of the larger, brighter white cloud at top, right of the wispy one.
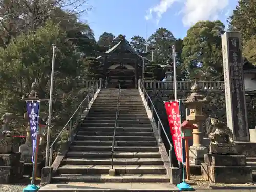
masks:
<path fill-rule="evenodd" d="M 228 0 L 186 0 L 182 9 L 182 23 L 191 26 L 199 20 L 216 20 L 227 6 Z"/>

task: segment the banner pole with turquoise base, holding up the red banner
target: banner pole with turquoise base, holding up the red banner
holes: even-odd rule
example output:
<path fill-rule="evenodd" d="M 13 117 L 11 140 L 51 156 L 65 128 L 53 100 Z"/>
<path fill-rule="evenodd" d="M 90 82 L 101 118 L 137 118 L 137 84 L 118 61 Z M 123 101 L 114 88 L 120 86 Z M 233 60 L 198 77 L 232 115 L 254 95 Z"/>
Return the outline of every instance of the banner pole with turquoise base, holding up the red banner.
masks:
<path fill-rule="evenodd" d="M 179 99 L 179 112 L 180 112 L 180 129 L 182 129 L 181 127 L 181 100 Z M 182 182 L 180 184 L 177 185 L 177 187 L 181 190 L 181 191 L 186 191 L 186 190 L 194 190 L 193 187 L 191 187 L 189 184 L 186 183 L 185 181 L 185 168 L 184 168 L 184 157 L 183 157 L 183 144 L 182 144 L 182 130 L 180 133 L 180 139 L 181 139 L 181 153 L 182 153 L 182 175 L 183 175 L 183 179 Z"/>

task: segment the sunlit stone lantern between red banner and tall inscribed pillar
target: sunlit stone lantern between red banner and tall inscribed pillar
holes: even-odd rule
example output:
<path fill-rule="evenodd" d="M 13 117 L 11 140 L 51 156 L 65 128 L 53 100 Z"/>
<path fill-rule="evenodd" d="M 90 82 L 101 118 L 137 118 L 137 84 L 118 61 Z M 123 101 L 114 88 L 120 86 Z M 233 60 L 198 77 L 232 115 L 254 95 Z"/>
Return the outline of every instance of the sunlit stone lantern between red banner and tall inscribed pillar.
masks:
<path fill-rule="evenodd" d="M 207 97 L 200 93 L 199 85 L 197 80 L 195 80 L 195 83 L 191 87 L 191 95 L 183 102 L 185 107 L 190 111 L 187 120 L 198 127 L 192 132 L 193 145 L 189 147 L 190 165 L 201 165 L 204 161 L 204 154 L 208 153 L 207 147 L 203 146 L 203 134 L 201 130 L 201 124 L 205 120 L 202 114 L 202 108 L 205 102 L 208 102 Z"/>

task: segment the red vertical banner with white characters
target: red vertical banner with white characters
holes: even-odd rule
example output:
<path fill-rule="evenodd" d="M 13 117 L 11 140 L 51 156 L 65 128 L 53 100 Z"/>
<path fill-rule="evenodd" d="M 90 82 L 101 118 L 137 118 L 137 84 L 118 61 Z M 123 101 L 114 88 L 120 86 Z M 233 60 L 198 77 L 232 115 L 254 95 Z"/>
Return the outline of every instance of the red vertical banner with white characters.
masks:
<path fill-rule="evenodd" d="M 165 109 L 168 115 L 170 133 L 173 138 L 173 145 L 177 160 L 182 162 L 182 141 L 181 141 L 181 119 L 178 101 L 165 102 Z"/>

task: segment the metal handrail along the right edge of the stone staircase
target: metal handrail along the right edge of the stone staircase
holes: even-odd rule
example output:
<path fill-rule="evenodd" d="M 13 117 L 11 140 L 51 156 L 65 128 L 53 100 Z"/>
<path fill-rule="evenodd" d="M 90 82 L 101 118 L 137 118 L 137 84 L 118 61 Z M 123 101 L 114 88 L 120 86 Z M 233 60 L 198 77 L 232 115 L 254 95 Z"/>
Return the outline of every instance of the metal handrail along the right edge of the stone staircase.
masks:
<path fill-rule="evenodd" d="M 156 110 L 156 108 L 155 108 L 155 106 L 154 106 L 154 104 L 153 104 L 153 102 L 152 102 L 150 96 L 149 96 L 148 93 L 146 92 L 146 89 L 145 89 L 144 84 L 143 84 L 143 82 L 141 81 L 141 79 L 139 79 L 139 86 L 138 86 L 138 88 L 139 88 L 141 91 L 142 91 L 142 89 L 143 89 L 143 91 L 142 91 L 143 94 L 146 94 L 147 106 L 148 106 L 148 102 L 151 103 L 152 121 L 154 121 L 154 113 L 155 113 L 156 116 L 157 116 L 157 119 L 158 119 L 158 142 L 159 142 L 159 143 L 162 142 L 162 140 L 161 140 L 161 130 L 160 130 L 160 127 L 161 127 L 161 129 L 163 130 L 164 135 L 165 135 L 165 137 L 166 137 L 166 139 L 167 139 L 167 141 L 168 141 L 168 143 L 169 143 L 169 145 L 170 145 L 169 158 L 170 158 L 170 167 L 172 167 L 172 159 L 171 159 L 171 154 L 172 154 L 172 153 L 171 153 L 171 152 L 172 152 L 173 145 L 172 145 L 172 143 L 170 142 L 170 139 L 169 139 L 169 137 L 168 137 L 168 135 L 167 135 L 167 133 L 166 133 L 166 131 L 165 131 L 165 129 L 164 129 L 163 123 L 162 123 L 162 121 L 161 121 L 161 119 L 160 119 L 160 117 L 159 117 L 159 115 L 158 115 L 158 113 L 157 113 L 157 110 Z M 144 95 L 143 95 L 143 96 L 144 96 Z M 144 96 L 144 97 L 145 97 L 145 96 Z"/>

